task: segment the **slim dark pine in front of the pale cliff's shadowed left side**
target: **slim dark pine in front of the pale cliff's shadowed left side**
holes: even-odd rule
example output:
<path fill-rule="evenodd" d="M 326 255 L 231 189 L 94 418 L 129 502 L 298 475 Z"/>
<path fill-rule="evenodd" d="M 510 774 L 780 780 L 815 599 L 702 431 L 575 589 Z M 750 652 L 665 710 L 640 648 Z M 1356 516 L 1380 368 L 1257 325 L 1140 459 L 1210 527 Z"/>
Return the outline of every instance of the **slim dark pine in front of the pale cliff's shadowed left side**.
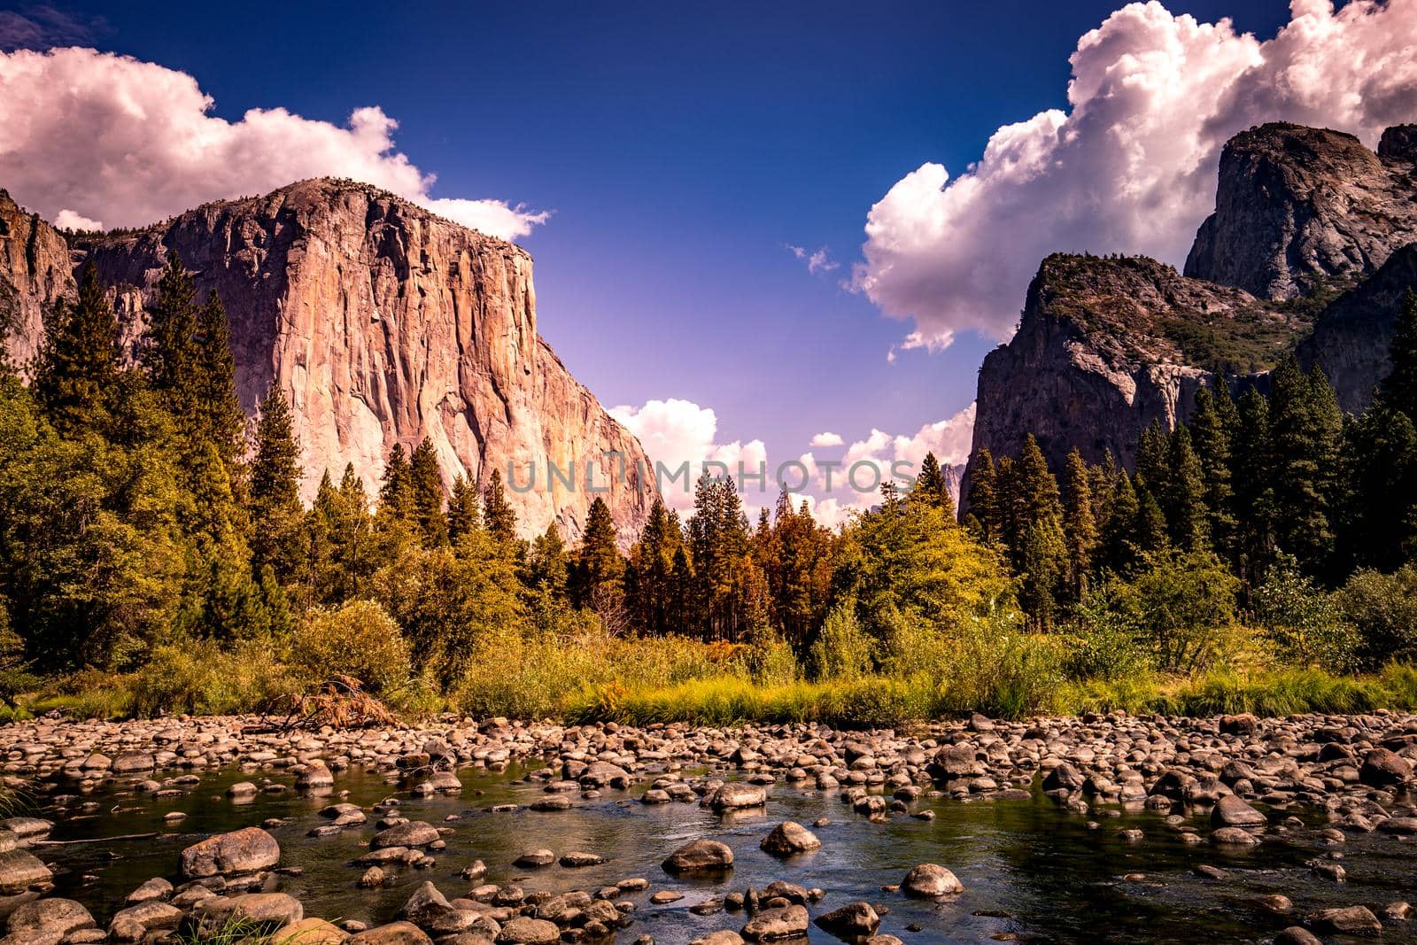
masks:
<path fill-rule="evenodd" d="M 251 551 L 256 567 L 269 565 L 285 581 L 300 560 L 299 449 L 285 394 L 272 385 L 261 402 L 256 448 L 251 460 Z"/>

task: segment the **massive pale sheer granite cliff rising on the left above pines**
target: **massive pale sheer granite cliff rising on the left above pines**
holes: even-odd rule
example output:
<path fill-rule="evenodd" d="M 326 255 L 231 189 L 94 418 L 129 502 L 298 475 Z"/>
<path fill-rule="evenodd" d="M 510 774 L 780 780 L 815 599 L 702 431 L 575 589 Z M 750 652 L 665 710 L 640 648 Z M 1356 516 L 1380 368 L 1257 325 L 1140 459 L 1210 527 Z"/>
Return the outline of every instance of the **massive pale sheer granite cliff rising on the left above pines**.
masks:
<path fill-rule="evenodd" d="M 55 269 L 68 254 L 51 235 L 44 227 L 45 252 L 24 268 L 13 248 L 4 264 L 11 282 L 48 289 L 21 293 L 21 356 L 40 336 L 38 312 L 74 281 L 71 268 Z M 289 398 L 306 499 L 346 463 L 377 485 L 394 443 L 411 451 L 428 436 L 445 483 L 485 483 L 493 469 L 514 480 L 507 497 L 524 534 L 554 521 L 577 537 L 597 494 L 623 536 L 643 523 L 653 483 L 640 480 L 652 472 L 636 469 L 652 470 L 650 460 L 537 334 L 531 256 L 519 247 L 374 187 L 319 179 L 78 239 L 75 262 L 94 262 L 136 332 L 169 249 L 201 293 L 215 289 L 225 303 L 247 411 L 271 384 Z M 548 460 L 574 469 L 574 489 L 548 475 Z M 605 492 L 587 489 L 591 462 Z M 533 468 L 536 487 L 524 489 Z"/>

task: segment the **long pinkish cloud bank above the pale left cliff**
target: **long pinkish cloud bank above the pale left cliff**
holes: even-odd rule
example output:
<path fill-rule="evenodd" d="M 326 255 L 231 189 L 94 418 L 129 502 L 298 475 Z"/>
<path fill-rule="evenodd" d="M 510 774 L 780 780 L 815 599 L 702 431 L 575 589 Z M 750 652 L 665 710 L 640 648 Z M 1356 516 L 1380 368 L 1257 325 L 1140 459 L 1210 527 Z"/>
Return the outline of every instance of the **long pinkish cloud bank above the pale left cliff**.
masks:
<path fill-rule="evenodd" d="M 351 177 L 493 237 L 546 222 L 500 200 L 432 197 L 432 174 L 394 147 L 377 106 L 346 126 L 283 108 L 241 120 L 211 115 L 197 79 L 85 48 L 0 54 L 0 181 L 57 220 L 143 225 L 197 204 L 259 194 L 306 177 Z"/>

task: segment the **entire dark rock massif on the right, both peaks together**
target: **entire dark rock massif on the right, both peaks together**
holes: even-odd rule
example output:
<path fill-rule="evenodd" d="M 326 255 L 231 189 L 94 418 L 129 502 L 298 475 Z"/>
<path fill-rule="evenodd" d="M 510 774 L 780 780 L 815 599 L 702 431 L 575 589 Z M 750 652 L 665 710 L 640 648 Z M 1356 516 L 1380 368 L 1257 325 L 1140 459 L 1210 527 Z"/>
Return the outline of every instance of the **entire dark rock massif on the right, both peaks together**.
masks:
<path fill-rule="evenodd" d="M 1376 153 L 1340 132 L 1261 125 L 1226 145 L 1185 275 L 1145 258 L 1049 256 L 1017 334 L 979 370 L 973 449 L 1016 455 L 1032 432 L 1054 469 L 1073 446 L 1129 466 L 1142 429 L 1186 419 L 1199 385 L 1263 384 L 1295 350 L 1362 409 L 1417 286 L 1414 159 L 1411 125 L 1387 129 Z"/>

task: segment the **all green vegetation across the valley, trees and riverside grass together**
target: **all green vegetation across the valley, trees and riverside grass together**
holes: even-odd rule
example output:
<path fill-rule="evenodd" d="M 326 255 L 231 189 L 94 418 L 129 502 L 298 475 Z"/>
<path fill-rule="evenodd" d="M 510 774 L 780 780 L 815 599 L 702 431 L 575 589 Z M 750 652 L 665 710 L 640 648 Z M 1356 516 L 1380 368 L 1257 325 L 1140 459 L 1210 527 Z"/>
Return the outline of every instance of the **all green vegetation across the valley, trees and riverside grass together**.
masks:
<path fill-rule="evenodd" d="M 983 711 L 1417 708 L 1417 303 L 1360 418 L 1294 363 L 1197 395 L 1135 472 L 1032 438 L 976 458 L 961 523 L 934 456 L 832 531 L 755 521 L 701 477 L 622 550 L 519 537 L 500 472 L 434 446 L 309 506 L 281 392 L 248 422 L 225 315 L 170 259 L 149 330 L 92 272 L 0 368 L 4 713 L 289 713 L 347 691 L 417 717 L 893 724 Z"/>

